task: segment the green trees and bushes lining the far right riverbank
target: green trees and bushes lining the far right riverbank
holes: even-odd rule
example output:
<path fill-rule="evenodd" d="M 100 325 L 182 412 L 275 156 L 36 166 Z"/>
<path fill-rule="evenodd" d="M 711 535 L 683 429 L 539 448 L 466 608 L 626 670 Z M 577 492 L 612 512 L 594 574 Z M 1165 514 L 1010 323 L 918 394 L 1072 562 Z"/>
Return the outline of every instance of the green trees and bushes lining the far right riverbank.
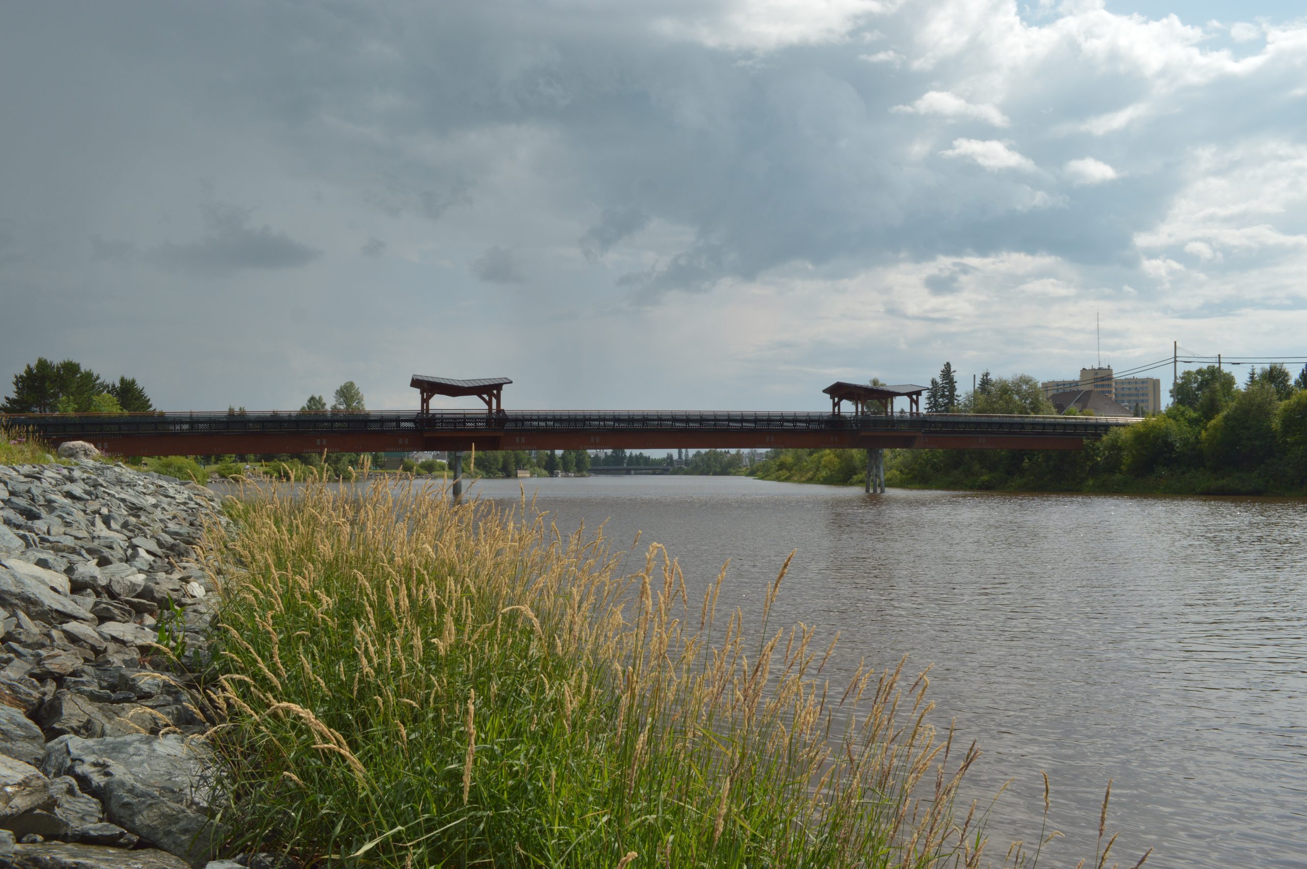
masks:
<path fill-rule="evenodd" d="M 889 486 L 1212 495 L 1307 494 L 1307 374 L 1249 371 L 1240 388 L 1217 366 L 1185 371 L 1171 406 L 1077 451 L 893 450 Z M 995 378 L 967 393 L 972 413 L 1052 413 L 1034 378 Z M 859 485 L 861 450 L 780 450 L 750 472 L 762 480 Z"/>

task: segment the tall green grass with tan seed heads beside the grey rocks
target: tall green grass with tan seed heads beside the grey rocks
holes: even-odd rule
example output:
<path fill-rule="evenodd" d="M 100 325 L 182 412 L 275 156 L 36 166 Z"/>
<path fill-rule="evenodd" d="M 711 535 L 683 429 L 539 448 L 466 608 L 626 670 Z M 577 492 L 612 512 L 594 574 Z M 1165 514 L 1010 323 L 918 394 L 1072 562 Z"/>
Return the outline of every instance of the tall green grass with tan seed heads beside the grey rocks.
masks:
<path fill-rule="evenodd" d="M 233 849 L 307 865 L 976 866 L 927 680 L 690 601 L 650 546 L 388 484 L 235 503 L 209 698 Z M 788 562 L 786 565 L 788 567 Z M 724 574 L 724 571 L 723 571 Z M 724 623 L 723 623 L 724 622 Z M 1026 852 L 1008 860 L 1029 862 Z"/>

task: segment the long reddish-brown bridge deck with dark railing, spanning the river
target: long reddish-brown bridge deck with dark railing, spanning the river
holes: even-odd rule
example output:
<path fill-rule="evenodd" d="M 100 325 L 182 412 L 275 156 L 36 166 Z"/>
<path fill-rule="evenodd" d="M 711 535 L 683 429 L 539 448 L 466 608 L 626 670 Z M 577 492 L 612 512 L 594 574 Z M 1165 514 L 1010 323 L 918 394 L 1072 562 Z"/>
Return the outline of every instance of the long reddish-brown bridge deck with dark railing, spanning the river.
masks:
<path fill-rule="evenodd" d="M 54 443 L 89 440 L 118 455 L 412 452 L 420 450 L 648 450 L 775 447 L 1080 450 L 1137 422 L 1120 417 L 989 414 L 835 416 L 720 410 L 379 410 L 7 417 Z"/>

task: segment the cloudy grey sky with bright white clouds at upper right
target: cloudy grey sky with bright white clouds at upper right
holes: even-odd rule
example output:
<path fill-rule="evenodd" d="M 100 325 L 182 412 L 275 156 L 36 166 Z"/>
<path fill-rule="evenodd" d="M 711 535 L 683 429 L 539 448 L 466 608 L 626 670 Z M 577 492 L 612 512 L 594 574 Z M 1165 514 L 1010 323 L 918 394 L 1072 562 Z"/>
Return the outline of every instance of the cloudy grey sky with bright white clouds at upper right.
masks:
<path fill-rule="evenodd" d="M 1307 354 L 1281 0 L 0 5 L 0 378 L 510 408 Z M 1163 391 L 1168 387 L 1170 372 Z"/>

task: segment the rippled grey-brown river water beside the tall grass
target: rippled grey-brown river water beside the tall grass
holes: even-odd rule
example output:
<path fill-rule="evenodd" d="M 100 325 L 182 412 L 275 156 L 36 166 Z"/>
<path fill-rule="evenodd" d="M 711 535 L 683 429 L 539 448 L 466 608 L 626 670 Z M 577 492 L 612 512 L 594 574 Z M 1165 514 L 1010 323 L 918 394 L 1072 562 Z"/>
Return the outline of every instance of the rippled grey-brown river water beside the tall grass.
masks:
<path fill-rule="evenodd" d="M 1093 864 L 1111 779 L 1107 865 L 1154 847 L 1149 866 L 1307 866 L 1307 502 L 521 482 L 561 529 L 606 520 L 616 541 L 667 545 L 693 588 L 729 558 L 721 601 L 746 613 L 797 550 L 772 626 L 839 631 L 846 674 L 933 664 L 936 723 L 984 753 L 968 795 L 1013 781 L 996 862 L 1038 838 L 1043 770 L 1065 839 L 1042 865 Z"/>

